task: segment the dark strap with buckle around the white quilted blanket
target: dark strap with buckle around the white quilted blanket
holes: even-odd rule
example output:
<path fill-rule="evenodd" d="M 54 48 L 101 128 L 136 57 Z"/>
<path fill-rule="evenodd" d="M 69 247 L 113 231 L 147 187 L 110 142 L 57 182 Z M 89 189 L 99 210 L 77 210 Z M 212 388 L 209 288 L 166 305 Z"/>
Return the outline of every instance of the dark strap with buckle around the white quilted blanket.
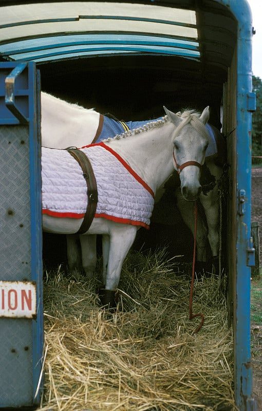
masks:
<path fill-rule="evenodd" d="M 93 217 L 95 217 L 96 210 L 97 210 L 97 202 L 98 202 L 98 192 L 97 192 L 97 181 L 95 174 L 93 174 L 93 169 L 88 157 L 77 147 L 68 147 L 66 148 L 68 153 L 76 159 L 83 170 L 83 176 L 86 181 L 87 185 L 87 208 L 86 213 L 81 224 L 80 229 L 78 230 L 77 234 L 84 234 L 89 227 L 91 226 L 91 222 Z"/>

